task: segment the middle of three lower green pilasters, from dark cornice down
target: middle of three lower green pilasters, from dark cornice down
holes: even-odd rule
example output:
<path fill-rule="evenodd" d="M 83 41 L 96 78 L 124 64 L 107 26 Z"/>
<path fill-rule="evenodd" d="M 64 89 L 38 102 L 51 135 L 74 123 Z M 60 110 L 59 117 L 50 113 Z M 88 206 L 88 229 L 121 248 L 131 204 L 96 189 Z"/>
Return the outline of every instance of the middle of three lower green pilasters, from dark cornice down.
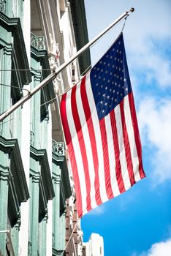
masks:
<path fill-rule="evenodd" d="M 54 189 L 45 149 L 31 146 L 30 154 L 30 219 L 28 255 L 45 255 L 47 236 L 47 201 Z"/>

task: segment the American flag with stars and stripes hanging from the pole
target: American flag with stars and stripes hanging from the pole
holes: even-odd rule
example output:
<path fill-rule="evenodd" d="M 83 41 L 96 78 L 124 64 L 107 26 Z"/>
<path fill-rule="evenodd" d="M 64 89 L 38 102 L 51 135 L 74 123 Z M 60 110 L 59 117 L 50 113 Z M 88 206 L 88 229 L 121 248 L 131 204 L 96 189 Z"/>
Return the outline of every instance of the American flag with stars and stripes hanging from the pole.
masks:
<path fill-rule="evenodd" d="M 145 177 L 123 34 L 61 98 L 78 216 Z"/>

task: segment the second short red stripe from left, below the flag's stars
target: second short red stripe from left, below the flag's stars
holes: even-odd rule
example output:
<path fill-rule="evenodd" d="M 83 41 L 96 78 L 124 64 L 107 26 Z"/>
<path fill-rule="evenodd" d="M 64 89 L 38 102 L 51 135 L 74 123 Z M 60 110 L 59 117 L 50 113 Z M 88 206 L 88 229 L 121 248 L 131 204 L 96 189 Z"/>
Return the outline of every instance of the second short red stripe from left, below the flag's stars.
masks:
<path fill-rule="evenodd" d="M 115 151 L 115 176 L 118 182 L 118 189 L 120 193 L 123 193 L 126 191 L 123 183 L 122 173 L 121 173 L 121 162 L 119 157 L 119 145 L 118 145 L 118 134 L 117 134 L 117 127 L 116 127 L 116 121 L 115 121 L 115 111 L 110 112 L 110 121 L 111 121 L 111 127 L 113 132 L 113 145 L 114 145 L 114 151 Z"/>

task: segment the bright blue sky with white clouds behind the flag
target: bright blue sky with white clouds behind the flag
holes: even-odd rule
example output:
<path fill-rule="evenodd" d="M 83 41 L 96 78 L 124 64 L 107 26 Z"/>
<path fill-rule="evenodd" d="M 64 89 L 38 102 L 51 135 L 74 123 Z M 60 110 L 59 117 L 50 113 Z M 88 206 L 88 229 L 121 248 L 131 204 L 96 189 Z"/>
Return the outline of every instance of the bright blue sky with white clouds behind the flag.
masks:
<path fill-rule="evenodd" d="M 171 255 L 170 0 L 85 0 L 92 39 L 131 7 L 123 30 L 146 178 L 86 214 L 84 241 L 104 238 L 105 256 Z M 122 29 L 115 26 L 91 48 L 95 64 Z"/>

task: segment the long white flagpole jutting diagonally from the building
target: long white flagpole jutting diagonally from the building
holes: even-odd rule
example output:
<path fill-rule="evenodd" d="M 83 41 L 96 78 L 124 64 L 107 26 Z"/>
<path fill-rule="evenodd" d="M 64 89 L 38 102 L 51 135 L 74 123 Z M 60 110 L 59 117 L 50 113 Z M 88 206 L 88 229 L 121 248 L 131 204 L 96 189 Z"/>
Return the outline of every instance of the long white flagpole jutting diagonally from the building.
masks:
<path fill-rule="evenodd" d="M 129 15 L 129 12 L 134 12 L 134 8 L 131 8 L 129 11 L 123 12 L 123 14 L 121 16 L 119 16 L 116 20 L 113 21 L 113 23 L 110 24 L 110 26 L 107 26 L 106 29 L 104 29 L 100 34 L 98 34 L 96 37 L 94 37 L 94 39 L 92 39 L 90 42 L 88 42 L 85 46 L 83 46 L 83 48 L 81 48 L 80 50 L 77 51 L 77 53 L 72 56 L 72 58 L 70 58 L 68 61 L 66 61 L 64 64 L 61 64 L 60 67 L 58 67 L 58 69 L 56 69 L 55 72 L 53 72 L 52 74 L 48 75 L 47 78 L 45 78 L 44 80 L 42 80 L 41 83 L 39 83 L 36 87 L 34 87 L 34 89 L 32 89 L 31 91 L 28 92 L 28 94 L 19 99 L 18 102 L 16 102 L 14 105 L 12 105 L 11 108 L 9 108 L 9 110 L 5 111 L 4 113 L 1 114 L 0 116 L 0 121 L 3 121 L 4 118 L 6 118 L 7 116 L 9 116 L 10 113 L 12 113 L 14 110 L 16 110 L 18 107 L 20 107 L 20 105 L 23 105 L 28 99 L 31 99 L 31 97 L 37 93 L 37 91 L 41 90 L 44 86 L 47 85 L 47 83 L 50 83 L 53 79 L 56 78 L 56 76 L 58 75 L 58 73 L 60 73 L 63 69 L 65 69 L 69 64 L 72 63 L 72 61 L 74 61 L 75 59 L 77 59 L 77 57 L 83 53 L 83 51 L 85 51 L 87 48 L 89 48 L 91 45 L 93 45 L 100 37 L 102 37 L 104 34 L 107 33 L 107 31 L 109 31 L 110 29 L 113 28 L 113 26 L 115 26 L 115 24 L 117 24 L 120 20 L 122 20 L 124 17 L 126 17 L 127 15 Z"/>

